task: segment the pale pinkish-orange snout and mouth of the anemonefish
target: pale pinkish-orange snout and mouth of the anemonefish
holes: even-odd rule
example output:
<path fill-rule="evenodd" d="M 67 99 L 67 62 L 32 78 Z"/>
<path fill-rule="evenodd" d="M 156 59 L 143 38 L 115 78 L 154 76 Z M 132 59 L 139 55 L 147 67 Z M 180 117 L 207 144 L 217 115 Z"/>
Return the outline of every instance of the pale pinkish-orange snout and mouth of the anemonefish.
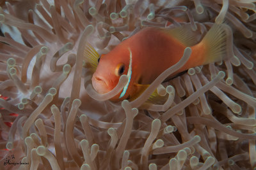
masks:
<path fill-rule="evenodd" d="M 93 74 L 92 76 L 92 86 L 99 94 L 104 94 L 110 91 L 108 81 L 97 74 Z"/>

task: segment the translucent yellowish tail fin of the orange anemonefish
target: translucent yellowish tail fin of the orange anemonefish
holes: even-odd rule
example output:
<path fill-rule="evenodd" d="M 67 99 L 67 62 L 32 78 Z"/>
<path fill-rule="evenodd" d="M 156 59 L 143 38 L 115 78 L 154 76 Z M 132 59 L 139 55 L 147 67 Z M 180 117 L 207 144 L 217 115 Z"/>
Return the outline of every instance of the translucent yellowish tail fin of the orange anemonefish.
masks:
<path fill-rule="evenodd" d="M 214 24 L 200 42 L 205 47 L 204 64 L 232 57 L 232 31 L 226 24 Z"/>

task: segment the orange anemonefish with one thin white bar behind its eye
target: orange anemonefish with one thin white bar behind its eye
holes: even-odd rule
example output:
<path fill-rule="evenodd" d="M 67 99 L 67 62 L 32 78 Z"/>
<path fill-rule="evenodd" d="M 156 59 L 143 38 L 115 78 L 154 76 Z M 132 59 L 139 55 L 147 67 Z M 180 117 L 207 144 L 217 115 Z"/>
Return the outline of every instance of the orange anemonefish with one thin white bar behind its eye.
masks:
<path fill-rule="evenodd" d="M 92 76 L 93 88 L 100 94 L 112 90 L 122 74 L 129 78 L 124 89 L 111 99 L 122 101 L 135 99 L 159 74 L 176 64 L 187 46 L 192 53 L 188 62 L 178 71 L 225 59 L 227 55 L 227 31 L 224 24 L 213 25 L 202 40 L 196 38 L 189 25 L 175 29 L 148 27 L 125 39 L 111 52 L 100 56 Z M 90 46 L 92 48 L 92 46 Z M 99 56 L 95 50 L 87 51 L 89 57 Z"/>

